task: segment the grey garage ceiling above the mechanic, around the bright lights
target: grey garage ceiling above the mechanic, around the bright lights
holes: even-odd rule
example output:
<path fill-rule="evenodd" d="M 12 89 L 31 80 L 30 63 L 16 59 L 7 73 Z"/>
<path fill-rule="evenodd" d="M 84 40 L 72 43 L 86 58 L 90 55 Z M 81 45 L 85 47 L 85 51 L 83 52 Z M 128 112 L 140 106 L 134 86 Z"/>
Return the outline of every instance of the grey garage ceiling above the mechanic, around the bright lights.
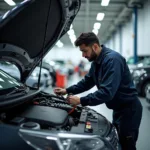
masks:
<path fill-rule="evenodd" d="M 13 1 L 18 4 L 22 0 Z M 145 1 L 147 0 L 110 0 L 108 6 L 101 6 L 102 0 L 81 0 L 81 9 L 72 24 L 75 36 L 71 35 L 71 37 L 78 37 L 82 32 L 91 32 L 94 23 L 97 22 L 101 23 L 98 30 L 98 37 L 101 43 L 105 43 L 120 25 L 130 20 L 133 9 L 129 7 L 133 7 L 133 3 L 141 7 Z M 4 0 L 0 0 L 0 15 L 13 7 L 8 5 Z M 105 13 L 102 21 L 96 20 L 98 13 Z M 68 33 L 60 39 L 65 47 L 73 46 L 72 43 L 74 40 L 71 42 Z"/>

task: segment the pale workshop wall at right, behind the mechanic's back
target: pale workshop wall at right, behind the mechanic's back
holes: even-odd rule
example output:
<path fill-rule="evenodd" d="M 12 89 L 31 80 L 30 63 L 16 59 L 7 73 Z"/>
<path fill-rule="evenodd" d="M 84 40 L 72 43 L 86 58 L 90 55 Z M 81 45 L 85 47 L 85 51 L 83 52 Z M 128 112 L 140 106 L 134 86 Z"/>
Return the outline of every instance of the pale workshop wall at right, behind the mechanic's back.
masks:
<path fill-rule="evenodd" d="M 133 17 L 128 23 L 122 26 L 122 41 L 119 37 L 120 29 L 116 31 L 115 35 L 106 43 L 107 46 L 120 52 L 119 45 L 122 44 L 122 55 L 125 58 L 133 56 L 134 51 L 134 24 Z M 142 9 L 138 9 L 138 43 L 137 54 L 138 55 L 150 55 L 150 42 L 148 36 L 150 35 L 150 0 L 144 4 Z M 114 43 L 115 42 L 115 43 Z"/>

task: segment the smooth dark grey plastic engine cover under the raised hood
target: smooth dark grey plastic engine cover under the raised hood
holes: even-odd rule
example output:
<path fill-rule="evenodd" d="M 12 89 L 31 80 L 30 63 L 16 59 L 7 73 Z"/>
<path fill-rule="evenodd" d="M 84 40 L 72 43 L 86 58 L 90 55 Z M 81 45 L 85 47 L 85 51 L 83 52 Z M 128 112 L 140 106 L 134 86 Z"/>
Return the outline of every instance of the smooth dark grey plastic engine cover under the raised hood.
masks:
<path fill-rule="evenodd" d="M 29 106 L 20 116 L 50 126 L 62 126 L 68 120 L 68 113 L 65 110 L 37 105 Z"/>

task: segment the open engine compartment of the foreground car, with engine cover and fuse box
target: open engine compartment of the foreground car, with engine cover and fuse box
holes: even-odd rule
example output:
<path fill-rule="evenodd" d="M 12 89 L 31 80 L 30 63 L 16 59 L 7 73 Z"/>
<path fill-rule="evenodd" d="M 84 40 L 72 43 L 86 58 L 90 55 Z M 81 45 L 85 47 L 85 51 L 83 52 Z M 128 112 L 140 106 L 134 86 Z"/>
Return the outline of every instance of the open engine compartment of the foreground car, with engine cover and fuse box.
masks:
<path fill-rule="evenodd" d="M 29 129 L 49 129 L 108 136 L 111 124 L 96 111 L 74 108 L 64 97 L 40 92 L 32 100 L 0 113 L 0 123 Z"/>

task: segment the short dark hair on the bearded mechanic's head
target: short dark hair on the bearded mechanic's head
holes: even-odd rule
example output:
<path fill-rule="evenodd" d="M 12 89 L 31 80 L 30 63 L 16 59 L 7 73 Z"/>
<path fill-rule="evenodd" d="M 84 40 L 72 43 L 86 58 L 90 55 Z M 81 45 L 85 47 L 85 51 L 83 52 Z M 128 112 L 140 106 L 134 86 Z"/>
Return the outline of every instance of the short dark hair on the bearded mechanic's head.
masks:
<path fill-rule="evenodd" d="M 85 44 L 86 46 L 91 46 L 97 43 L 100 46 L 98 37 L 93 32 L 82 33 L 75 41 L 75 46 L 80 46 Z"/>

